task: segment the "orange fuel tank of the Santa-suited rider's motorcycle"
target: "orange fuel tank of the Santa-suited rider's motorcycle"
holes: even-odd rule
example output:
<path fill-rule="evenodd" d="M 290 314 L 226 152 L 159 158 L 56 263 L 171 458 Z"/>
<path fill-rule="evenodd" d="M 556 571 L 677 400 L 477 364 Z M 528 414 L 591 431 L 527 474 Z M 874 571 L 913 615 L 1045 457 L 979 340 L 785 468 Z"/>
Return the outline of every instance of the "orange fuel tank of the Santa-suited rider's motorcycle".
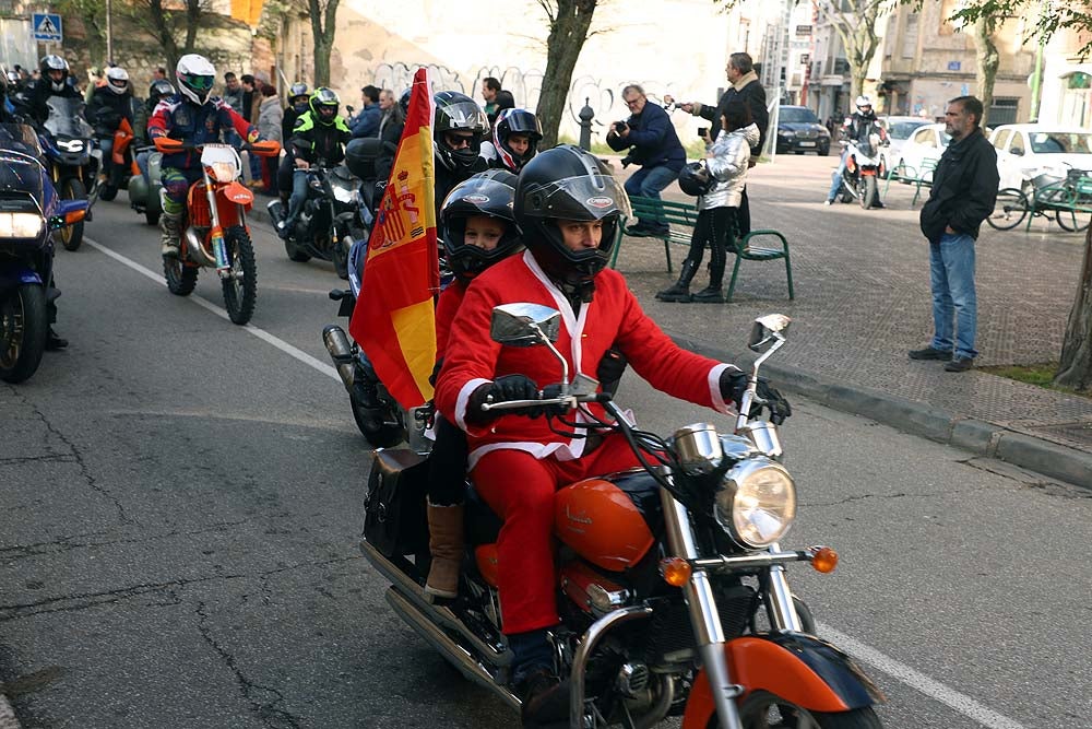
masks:
<path fill-rule="evenodd" d="M 655 541 L 662 524 L 658 486 L 648 473 L 627 471 L 578 481 L 554 498 L 554 533 L 592 564 L 621 572 Z"/>

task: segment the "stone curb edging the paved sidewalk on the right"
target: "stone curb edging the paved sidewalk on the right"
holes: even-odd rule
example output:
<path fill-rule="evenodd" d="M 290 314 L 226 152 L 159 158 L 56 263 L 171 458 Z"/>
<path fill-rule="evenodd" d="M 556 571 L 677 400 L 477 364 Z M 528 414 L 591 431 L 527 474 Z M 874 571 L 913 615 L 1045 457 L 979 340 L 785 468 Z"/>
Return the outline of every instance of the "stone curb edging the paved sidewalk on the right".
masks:
<path fill-rule="evenodd" d="M 675 334 L 672 334 L 672 339 L 679 346 L 722 362 L 744 361 L 744 357 L 708 342 Z M 1092 454 L 922 402 L 865 387 L 851 387 L 796 367 L 768 364 L 763 371 L 772 375 L 779 388 L 803 395 L 834 410 L 863 415 L 904 433 L 1092 490 Z"/>

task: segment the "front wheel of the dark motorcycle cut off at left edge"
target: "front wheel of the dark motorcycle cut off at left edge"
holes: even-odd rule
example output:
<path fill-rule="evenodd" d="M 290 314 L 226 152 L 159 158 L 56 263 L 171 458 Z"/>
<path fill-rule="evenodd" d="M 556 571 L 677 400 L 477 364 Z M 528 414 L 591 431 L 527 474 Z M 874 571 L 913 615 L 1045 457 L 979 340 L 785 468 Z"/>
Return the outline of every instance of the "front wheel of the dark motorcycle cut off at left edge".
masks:
<path fill-rule="evenodd" d="M 46 351 L 49 324 L 46 292 L 22 284 L 0 301 L 0 379 L 22 383 L 33 375 Z"/>

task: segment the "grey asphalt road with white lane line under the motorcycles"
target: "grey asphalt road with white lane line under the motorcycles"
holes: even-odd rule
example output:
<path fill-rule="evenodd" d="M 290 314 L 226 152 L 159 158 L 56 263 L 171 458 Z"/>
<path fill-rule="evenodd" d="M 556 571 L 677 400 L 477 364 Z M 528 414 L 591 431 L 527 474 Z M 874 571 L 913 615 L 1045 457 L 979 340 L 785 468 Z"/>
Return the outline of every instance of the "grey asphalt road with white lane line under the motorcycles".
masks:
<path fill-rule="evenodd" d="M 320 341 L 332 267 L 256 226 L 236 327 L 207 271 L 166 291 L 124 200 L 58 252 L 68 351 L 0 385 L 0 681 L 24 727 L 515 726 L 359 555 L 369 452 Z M 658 432 L 727 427 L 633 377 L 620 398 Z M 1089 726 L 1090 493 L 794 404 L 785 544 L 842 563 L 790 577 L 887 693 L 885 726 Z"/>

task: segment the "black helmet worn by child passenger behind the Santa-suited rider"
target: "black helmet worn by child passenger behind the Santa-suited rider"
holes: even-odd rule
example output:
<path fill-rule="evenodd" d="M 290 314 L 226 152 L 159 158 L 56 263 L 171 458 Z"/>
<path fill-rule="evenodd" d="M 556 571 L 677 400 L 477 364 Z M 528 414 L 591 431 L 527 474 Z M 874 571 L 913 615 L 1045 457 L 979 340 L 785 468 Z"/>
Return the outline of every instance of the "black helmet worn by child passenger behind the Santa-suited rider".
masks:
<path fill-rule="evenodd" d="M 439 232 L 448 267 L 463 283 L 470 283 L 482 271 L 523 248 L 512 214 L 515 180 L 515 175 L 507 169 L 478 173 L 456 185 L 440 207 Z M 505 233 L 492 250 L 464 243 L 466 219 L 472 215 L 495 217 L 505 225 Z"/>

